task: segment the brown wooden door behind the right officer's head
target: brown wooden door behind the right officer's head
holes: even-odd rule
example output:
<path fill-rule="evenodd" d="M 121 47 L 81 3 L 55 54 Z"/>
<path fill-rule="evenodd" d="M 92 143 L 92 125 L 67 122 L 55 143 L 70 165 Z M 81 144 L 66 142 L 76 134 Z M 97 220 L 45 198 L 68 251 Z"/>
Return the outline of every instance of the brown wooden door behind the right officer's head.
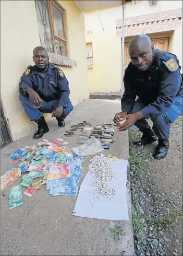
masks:
<path fill-rule="evenodd" d="M 168 41 L 169 38 L 157 38 L 157 39 L 151 39 L 152 45 L 154 45 L 155 50 L 160 51 L 168 51 Z M 129 48 L 129 42 L 125 43 L 125 68 L 130 63 L 130 57 L 128 55 L 128 48 Z"/>

